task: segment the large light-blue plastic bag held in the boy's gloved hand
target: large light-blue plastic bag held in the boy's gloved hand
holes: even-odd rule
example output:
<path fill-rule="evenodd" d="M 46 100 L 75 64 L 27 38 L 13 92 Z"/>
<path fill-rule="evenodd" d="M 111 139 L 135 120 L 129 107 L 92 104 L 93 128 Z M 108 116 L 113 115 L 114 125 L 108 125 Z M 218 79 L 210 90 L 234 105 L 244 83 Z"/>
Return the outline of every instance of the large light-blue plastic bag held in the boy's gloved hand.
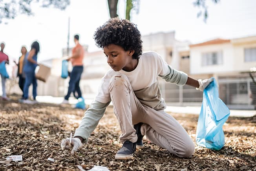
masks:
<path fill-rule="evenodd" d="M 221 149 L 225 144 L 222 126 L 229 114 L 229 108 L 219 98 L 217 82 L 214 79 L 203 91 L 196 129 L 197 145 L 214 150 Z"/>

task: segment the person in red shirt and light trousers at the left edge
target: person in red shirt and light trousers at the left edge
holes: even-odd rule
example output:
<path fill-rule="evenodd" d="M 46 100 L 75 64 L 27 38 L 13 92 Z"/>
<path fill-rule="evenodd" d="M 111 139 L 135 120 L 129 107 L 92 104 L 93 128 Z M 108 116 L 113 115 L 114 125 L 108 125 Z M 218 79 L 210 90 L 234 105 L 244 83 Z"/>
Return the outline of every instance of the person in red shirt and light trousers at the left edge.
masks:
<path fill-rule="evenodd" d="M 4 42 L 2 42 L 0 44 L 1 46 L 1 51 L 0 51 L 0 63 L 1 62 L 5 62 L 5 64 L 9 64 L 9 57 L 8 55 L 6 55 L 4 53 L 4 47 L 5 47 L 5 44 Z M 1 75 L 1 80 L 2 80 L 2 91 L 3 91 L 3 94 L 2 94 L 2 99 L 3 100 L 10 100 L 7 96 L 6 96 L 6 91 L 5 91 L 5 81 L 6 81 L 6 78 L 2 75 Z"/>

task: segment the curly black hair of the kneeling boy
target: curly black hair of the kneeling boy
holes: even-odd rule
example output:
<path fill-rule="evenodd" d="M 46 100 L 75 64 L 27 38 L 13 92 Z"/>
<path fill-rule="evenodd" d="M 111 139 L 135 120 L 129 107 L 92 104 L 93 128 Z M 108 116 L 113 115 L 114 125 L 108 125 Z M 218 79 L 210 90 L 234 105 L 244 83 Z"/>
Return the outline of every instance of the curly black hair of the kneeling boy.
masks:
<path fill-rule="evenodd" d="M 141 33 L 137 29 L 137 25 L 129 20 L 111 18 L 97 28 L 93 37 L 99 48 L 110 44 L 119 45 L 123 47 L 124 51 L 134 50 L 133 59 L 138 59 L 142 54 Z"/>

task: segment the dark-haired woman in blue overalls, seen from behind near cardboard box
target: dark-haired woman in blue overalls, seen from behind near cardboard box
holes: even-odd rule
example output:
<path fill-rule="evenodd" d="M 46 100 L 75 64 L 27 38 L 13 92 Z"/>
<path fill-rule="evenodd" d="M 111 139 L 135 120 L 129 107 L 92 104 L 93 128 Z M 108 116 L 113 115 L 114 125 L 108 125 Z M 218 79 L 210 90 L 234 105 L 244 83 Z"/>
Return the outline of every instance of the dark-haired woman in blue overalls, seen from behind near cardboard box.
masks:
<path fill-rule="evenodd" d="M 37 67 L 37 55 L 40 51 L 40 45 L 37 41 L 31 44 L 31 50 L 26 53 L 23 64 L 23 74 L 25 75 L 25 83 L 23 87 L 24 99 L 23 103 L 35 104 L 37 103 L 37 78 L 35 77 L 35 69 Z M 33 101 L 28 99 L 28 89 L 33 85 Z"/>

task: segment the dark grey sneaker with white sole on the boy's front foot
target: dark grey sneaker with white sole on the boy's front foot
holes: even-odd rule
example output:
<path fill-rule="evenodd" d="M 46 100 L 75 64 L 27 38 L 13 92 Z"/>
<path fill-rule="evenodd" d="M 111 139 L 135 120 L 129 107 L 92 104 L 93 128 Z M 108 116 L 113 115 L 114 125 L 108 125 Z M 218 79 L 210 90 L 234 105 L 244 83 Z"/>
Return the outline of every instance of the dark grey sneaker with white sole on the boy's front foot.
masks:
<path fill-rule="evenodd" d="M 133 153 L 136 151 L 136 143 L 131 142 L 127 140 L 124 142 L 123 146 L 119 151 L 117 151 L 117 154 L 115 155 L 115 159 L 119 160 L 132 160 L 133 159 Z"/>

